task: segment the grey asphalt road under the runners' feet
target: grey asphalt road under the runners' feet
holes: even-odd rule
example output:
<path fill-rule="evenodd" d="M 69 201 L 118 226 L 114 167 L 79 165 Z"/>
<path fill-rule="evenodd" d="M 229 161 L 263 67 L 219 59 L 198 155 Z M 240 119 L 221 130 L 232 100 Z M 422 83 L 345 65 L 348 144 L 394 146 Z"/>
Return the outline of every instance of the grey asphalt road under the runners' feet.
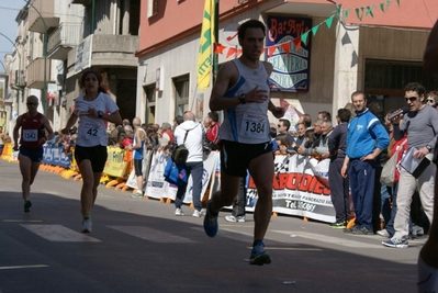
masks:
<path fill-rule="evenodd" d="M 209 238 L 202 218 L 172 204 L 99 188 L 93 230 L 81 234 L 81 182 L 40 171 L 23 213 L 19 166 L 0 159 L 0 293 L 15 292 L 416 292 L 425 238 L 407 249 L 300 217 L 272 217 L 272 263 L 249 266 L 252 214 Z"/>

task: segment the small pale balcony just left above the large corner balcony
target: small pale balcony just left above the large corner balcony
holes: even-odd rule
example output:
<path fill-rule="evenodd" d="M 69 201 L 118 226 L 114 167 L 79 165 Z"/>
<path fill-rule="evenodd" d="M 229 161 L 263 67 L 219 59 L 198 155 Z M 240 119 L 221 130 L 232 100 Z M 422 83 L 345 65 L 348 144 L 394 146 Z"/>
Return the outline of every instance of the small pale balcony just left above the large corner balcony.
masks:
<path fill-rule="evenodd" d="M 81 24 L 59 24 L 48 36 L 47 57 L 50 59 L 66 60 L 68 52 L 80 43 L 81 33 Z"/>

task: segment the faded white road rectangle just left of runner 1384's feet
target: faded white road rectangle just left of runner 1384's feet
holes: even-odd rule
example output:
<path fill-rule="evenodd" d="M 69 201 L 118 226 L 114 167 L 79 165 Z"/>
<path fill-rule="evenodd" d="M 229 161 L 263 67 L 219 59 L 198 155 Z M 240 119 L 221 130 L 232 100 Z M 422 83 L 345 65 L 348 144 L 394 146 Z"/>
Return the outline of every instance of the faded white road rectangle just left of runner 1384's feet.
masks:
<path fill-rule="evenodd" d="M 145 226 L 109 226 L 115 230 L 122 232 L 124 234 L 128 234 L 135 236 L 137 238 L 148 240 L 151 243 L 178 243 L 178 244 L 195 244 L 192 239 L 181 237 L 178 235 L 173 235 L 170 233 L 165 233 L 162 230 L 153 229 Z"/>

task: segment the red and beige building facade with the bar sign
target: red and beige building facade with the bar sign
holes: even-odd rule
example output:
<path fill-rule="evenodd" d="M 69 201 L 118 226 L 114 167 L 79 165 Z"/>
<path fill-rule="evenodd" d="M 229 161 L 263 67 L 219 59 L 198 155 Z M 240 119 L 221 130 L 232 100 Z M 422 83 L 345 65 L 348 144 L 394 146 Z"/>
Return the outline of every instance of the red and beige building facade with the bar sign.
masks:
<path fill-rule="evenodd" d="M 404 103 L 403 88 L 419 81 L 438 2 L 340 0 L 221 0 L 218 64 L 239 56 L 237 26 L 248 19 L 268 29 L 262 59 L 273 64 L 271 98 L 316 117 L 335 113 L 363 90 L 382 112 Z M 171 122 L 186 110 L 206 115 L 211 87 L 196 88 L 204 1 L 142 0 L 136 115 Z M 415 16 L 413 16 L 415 11 Z M 272 117 L 273 119 L 273 117 Z"/>

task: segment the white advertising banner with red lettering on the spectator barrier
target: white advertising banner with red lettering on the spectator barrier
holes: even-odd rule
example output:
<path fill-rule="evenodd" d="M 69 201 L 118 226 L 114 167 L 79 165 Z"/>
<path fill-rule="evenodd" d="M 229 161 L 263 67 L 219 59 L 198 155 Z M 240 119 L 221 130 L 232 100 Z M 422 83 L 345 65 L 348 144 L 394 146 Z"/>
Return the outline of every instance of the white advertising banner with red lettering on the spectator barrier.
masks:
<path fill-rule="evenodd" d="M 146 185 L 145 195 L 154 199 L 175 200 L 177 187 L 165 181 L 162 172 L 169 156 L 162 151 L 153 155 L 150 170 Z M 316 159 L 293 155 L 276 156 L 273 178 L 273 212 L 287 215 L 308 217 L 327 223 L 335 222 L 335 209 L 332 204 L 330 190 L 328 188 L 329 160 L 318 161 Z M 202 176 L 203 190 L 205 194 L 210 184 L 209 198 L 220 189 L 220 153 L 212 151 L 204 158 L 204 173 Z M 192 179 L 189 185 L 184 203 L 192 202 Z M 252 179 L 249 180 L 246 211 L 254 212 L 257 203 L 257 190 Z"/>

